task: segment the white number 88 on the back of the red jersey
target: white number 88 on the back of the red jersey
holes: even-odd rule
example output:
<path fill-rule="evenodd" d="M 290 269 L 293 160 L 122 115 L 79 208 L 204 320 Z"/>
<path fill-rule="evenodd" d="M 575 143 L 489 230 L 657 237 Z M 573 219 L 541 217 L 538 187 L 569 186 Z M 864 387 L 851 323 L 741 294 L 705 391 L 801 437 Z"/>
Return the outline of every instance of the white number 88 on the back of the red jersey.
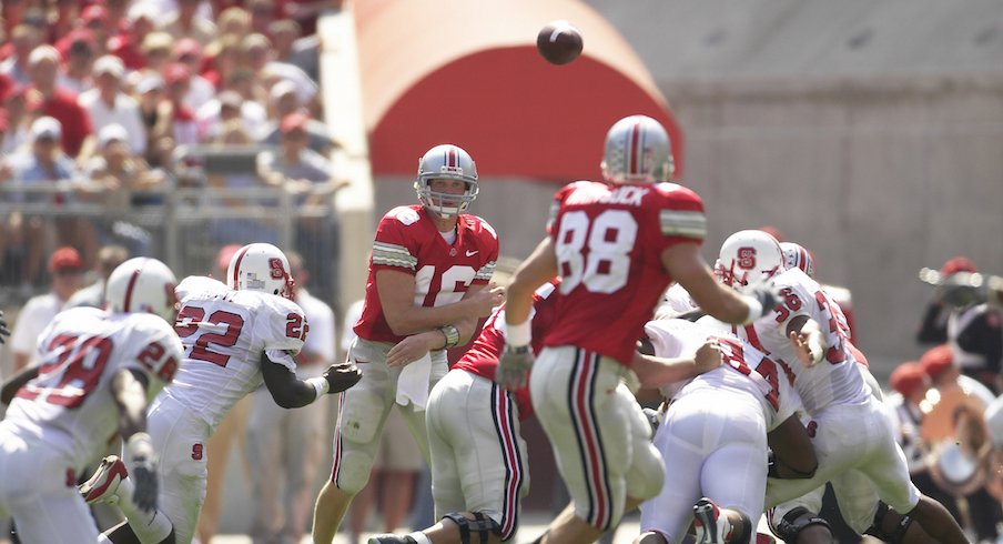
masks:
<path fill-rule="evenodd" d="M 565 213 L 557 233 L 560 292 L 584 284 L 608 294 L 626 285 L 636 240 L 637 221 L 627 210 L 606 210 L 592 220 L 584 211 Z"/>

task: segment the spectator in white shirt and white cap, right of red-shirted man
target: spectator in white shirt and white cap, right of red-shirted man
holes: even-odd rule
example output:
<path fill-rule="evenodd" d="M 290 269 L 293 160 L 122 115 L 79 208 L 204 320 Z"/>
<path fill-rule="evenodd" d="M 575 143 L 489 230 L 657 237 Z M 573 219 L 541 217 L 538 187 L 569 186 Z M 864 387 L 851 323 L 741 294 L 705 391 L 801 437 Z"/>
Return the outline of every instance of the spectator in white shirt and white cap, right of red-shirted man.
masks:
<path fill-rule="evenodd" d="M 139 103 L 122 91 L 122 78 L 125 77 L 122 60 L 105 54 L 94 61 L 92 73 L 94 88 L 82 92 L 77 102 L 90 114 L 94 131 L 100 134 L 104 127 L 120 124 L 129 134 L 129 149 L 134 153 L 145 153 L 149 134 L 143 127 Z"/>

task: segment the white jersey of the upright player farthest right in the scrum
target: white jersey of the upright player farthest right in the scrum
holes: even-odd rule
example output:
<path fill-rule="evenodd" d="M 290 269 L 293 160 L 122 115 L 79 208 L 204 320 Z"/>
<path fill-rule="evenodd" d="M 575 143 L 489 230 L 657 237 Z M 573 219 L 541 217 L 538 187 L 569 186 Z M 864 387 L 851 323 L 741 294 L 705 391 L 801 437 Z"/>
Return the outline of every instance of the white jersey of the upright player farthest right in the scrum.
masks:
<path fill-rule="evenodd" d="M 847 345 L 850 326 L 839 304 L 801 269 L 786 270 L 773 280 L 781 296 L 777 308 L 752 325 L 737 325 L 736 333 L 793 372 L 794 389 L 810 414 L 833 404 L 868 402 L 870 390 Z M 829 344 L 822 361 L 811 367 L 801 364 L 787 336 L 788 323 L 798 315 L 814 320 Z"/>

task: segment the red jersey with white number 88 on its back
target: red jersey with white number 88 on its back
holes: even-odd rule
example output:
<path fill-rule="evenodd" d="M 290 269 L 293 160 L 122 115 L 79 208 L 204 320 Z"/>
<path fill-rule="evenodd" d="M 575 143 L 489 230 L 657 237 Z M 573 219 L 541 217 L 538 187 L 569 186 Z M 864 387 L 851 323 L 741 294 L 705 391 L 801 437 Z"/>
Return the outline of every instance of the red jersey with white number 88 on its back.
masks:
<path fill-rule="evenodd" d="M 676 183 L 578 181 L 554 197 L 547 230 L 560 274 L 544 345 L 575 345 L 630 365 L 635 342 L 672 278 L 661 253 L 702 243 L 703 202 Z"/>

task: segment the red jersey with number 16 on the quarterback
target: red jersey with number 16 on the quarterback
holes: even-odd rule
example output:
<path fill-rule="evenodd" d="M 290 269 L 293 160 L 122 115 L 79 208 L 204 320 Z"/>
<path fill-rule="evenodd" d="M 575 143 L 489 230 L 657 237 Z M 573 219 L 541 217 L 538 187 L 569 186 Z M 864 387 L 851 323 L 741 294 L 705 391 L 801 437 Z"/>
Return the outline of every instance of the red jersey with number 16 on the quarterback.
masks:
<path fill-rule="evenodd" d="M 391 331 L 376 292 L 376 273 L 396 270 L 415 276 L 415 304 L 443 306 L 458 302 L 470 285 L 485 285 L 495 273 L 498 236 L 487 221 L 460 214 L 456 241 L 443 239 L 421 204 L 394 208 L 379 220 L 369 254 L 369 275 L 362 318 L 354 331 L 372 342 L 404 340 Z"/>

